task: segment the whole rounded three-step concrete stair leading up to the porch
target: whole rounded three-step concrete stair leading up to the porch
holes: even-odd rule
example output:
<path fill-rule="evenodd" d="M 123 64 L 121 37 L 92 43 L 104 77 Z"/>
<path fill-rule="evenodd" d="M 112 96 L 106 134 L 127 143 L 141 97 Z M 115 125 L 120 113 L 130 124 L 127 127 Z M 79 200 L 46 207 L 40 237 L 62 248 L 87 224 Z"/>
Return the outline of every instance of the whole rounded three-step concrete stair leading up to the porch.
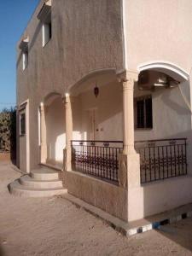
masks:
<path fill-rule="evenodd" d="M 59 173 L 47 167 L 32 170 L 9 184 L 12 195 L 23 197 L 49 197 L 67 193 L 59 179 Z"/>

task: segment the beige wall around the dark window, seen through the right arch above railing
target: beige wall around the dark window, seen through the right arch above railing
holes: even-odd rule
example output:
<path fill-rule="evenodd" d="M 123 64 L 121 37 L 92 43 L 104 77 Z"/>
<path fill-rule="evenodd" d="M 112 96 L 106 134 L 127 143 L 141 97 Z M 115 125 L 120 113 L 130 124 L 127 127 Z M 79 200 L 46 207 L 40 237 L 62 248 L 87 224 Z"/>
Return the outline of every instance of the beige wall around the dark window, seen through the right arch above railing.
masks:
<path fill-rule="evenodd" d="M 185 84 L 180 86 L 184 91 Z M 137 129 L 135 131 L 136 141 L 190 137 L 191 113 L 178 87 L 157 88 L 154 91 L 143 91 L 136 88 L 136 98 L 144 95 L 152 96 L 153 129 Z"/>

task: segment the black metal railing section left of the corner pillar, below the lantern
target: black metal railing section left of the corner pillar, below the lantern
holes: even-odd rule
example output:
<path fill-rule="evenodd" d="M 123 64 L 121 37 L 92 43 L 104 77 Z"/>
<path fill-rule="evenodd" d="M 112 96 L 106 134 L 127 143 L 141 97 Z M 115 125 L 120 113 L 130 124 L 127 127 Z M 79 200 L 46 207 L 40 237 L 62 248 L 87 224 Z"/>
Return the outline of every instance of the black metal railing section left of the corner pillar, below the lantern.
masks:
<path fill-rule="evenodd" d="M 73 170 L 118 182 L 119 141 L 72 141 Z"/>

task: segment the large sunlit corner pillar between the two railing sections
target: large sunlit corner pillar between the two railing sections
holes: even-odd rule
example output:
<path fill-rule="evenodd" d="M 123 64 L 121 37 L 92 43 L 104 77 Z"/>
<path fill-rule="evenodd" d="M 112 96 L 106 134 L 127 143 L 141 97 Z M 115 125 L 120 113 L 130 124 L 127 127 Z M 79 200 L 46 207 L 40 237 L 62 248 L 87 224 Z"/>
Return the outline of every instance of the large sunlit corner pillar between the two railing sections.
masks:
<path fill-rule="evenodd" d="M 134 148 L 134 84 L 137 73 L 119 76 L 123 90 L 124 149 L 119 155 L 119 186 L 127 190 L 127 221 L 143 218 L 143 193 L 140 183 L 140 157 Z"/>

